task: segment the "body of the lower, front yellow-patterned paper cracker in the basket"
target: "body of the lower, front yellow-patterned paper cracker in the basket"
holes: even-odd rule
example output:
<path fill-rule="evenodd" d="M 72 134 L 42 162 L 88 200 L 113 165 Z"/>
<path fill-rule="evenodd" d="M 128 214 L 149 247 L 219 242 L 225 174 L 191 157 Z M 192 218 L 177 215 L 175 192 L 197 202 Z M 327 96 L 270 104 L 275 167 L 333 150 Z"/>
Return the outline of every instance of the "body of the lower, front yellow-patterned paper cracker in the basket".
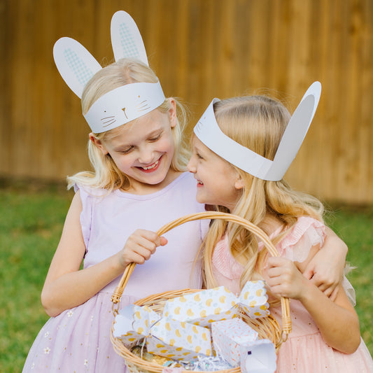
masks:
<path fill-rule="evenodd" d="M 211 355 L 211 333 L 208 328 L 161 318 L 150 329 L 146 339 L 148 352 L 174 360 L 193 360 Z"/>

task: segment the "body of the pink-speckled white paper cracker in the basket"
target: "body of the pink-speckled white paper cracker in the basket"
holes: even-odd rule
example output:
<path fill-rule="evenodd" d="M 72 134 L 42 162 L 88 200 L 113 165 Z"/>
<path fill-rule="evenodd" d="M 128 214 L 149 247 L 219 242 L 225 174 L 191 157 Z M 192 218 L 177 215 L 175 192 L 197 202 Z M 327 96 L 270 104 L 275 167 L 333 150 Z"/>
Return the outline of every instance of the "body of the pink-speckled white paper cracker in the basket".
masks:
<path fill-rule="evenodd" d="M 240 365 L 240 348 L 258 339 L 258 333 L 240 318 L 211 323 L 213 348 L 232 367 Z"/>

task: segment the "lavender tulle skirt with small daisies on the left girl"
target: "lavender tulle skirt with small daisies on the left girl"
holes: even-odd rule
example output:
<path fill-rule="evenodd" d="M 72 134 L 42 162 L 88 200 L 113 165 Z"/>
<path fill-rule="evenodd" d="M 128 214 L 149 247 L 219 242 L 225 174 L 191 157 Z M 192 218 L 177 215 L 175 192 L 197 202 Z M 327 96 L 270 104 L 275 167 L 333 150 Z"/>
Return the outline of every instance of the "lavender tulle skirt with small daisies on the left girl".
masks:
<path fill-rule="evenodd" d="M 136 300 L 122 296 L 121 307 Z M 125 360 L 110 340 L 111 307 L 111 293 L 101 292 L 50 318 L 32 344 L 22 372 L 124 373 Z"/>

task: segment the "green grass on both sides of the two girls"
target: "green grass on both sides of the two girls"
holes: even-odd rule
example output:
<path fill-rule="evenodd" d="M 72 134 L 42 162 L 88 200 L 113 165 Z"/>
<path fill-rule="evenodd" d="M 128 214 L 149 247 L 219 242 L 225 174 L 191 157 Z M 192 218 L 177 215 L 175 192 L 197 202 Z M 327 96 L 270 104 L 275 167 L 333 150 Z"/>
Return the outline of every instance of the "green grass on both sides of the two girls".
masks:
<path fill-rule="evenodd" d="M 62 188 L 0 188 L 0 372 L 22 370 L 48 320 L 40 293 L 71 197 Z M 349 245 L 349 262 L 358 267 L 349 279 L 356 288 L 361 333 L 373 353 L 373 206 L 336 209 L 328 222 Z"/>

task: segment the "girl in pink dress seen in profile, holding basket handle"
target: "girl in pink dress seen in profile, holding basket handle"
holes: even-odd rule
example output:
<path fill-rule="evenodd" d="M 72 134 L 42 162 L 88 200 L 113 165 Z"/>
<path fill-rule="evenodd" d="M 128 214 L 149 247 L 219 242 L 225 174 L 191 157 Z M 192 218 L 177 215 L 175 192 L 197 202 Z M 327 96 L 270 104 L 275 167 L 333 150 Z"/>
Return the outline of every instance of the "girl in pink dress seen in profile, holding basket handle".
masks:
<path fill-rule="evenodd" d="M 293 330 L 279 349 L 276 372 L 373 372 L 347 281 L 328 296 L 307 278 L 307 266 L 324 250 L 323 205 L 283 179 L 320 94 L 315 82 L 291 118 L 269 97 L 214 99 L 195 126 L 188 169 L 197 180 L 197 201 L 258 225 L 280 255 L 269 258 L 243 227 L 214 220 L 203 247 L 204 281 L 238 293 L 246 281 L 265 279 L 272 301 L 290 298 Z M 271 311 L 281 323 L 276 302 Z"/>

